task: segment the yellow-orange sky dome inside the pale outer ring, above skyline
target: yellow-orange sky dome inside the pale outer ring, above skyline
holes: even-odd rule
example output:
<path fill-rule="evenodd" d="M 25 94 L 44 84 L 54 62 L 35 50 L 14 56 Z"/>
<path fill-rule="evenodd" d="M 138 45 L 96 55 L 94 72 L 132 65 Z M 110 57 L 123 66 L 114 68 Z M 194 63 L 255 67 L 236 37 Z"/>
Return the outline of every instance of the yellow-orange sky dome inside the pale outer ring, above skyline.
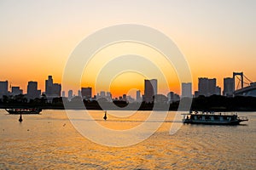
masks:
<path fill-rule="evenodd" d="M 134 68 L 134 65 L 135 70 L 129 70 L 130 66 Z M 141 68 L 143 71 L 137 72 Z M 167 94 L 170 91 L 165 87 L 165 82 L 172 91 L 179 92 L 180 82 L 176 71 L 165 56 L 141 43 L 120 42 L 103 48 L 90 59 L 84 68 L 81 87 L 92 87 L 93 94 L 111 91 L 113 96 L 119 96 L 126 94 L 131 88 L 143 92 L 146 78 L 158 80 L 159 94 Z"/>

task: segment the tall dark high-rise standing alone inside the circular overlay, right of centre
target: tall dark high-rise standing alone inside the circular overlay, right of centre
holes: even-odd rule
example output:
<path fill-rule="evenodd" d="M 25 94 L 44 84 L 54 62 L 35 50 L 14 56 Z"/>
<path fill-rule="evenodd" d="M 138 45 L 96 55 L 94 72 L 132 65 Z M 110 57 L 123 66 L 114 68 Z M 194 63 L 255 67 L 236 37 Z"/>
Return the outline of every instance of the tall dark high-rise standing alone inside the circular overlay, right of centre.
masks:
<path fill-rule="evenodd" d="M 157 94 L 157 80 L 144 80 L 144 95 L 143 101 L 145 102 L 153 102 L 154 95 Z"/>

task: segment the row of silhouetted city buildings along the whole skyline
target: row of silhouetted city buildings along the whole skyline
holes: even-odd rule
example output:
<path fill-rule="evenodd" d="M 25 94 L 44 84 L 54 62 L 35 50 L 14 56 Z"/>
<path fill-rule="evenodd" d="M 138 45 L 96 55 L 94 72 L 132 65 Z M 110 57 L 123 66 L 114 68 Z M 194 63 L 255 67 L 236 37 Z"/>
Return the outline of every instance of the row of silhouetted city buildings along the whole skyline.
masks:
<path fill-rule="evenodd" d="M 19 94 L 23 94 L 23 90 L 20 87 L 10 87 L 11 91 L 9 92 L 9 82 L 0 82 L 0 98 L 3 96 L 16 96 Z M 136 99 L 131 98 L 131 96 L 127 96 L 123 94 L 119 96 L 119 98 L 113 99 L 112 94 L 110 92 L 101 91 L 100 93 L 92 96 L 92 88 L 81 88 L 78 91 L 79 97 L 82 99 L 106 99 L 107 101 L 112 100 L 122 100 L 128 102 L 134 101 L 145 101 L 145 102 L 153 102 L 155 96 L 159 96 L 158 94 L 158 86 L 157 86 L 157 79 L 151 80 L 144 80 L 144 93 L 142 94 L 140 90 L 137 91 Z M 38 89 L 38 82 L 28 82 L 27 83 L 27 90 L 26 90 L 25 97 L 26 99 L 36 99 L 40 98 L 41 95 L 45 95 L 45 97 L 51 101 L 54 98 L 59 97 L 66 97 L 64 91 L 61 92 L 61 84 L 54 83 L 52 76 L 49 76 L 47 80 L 45 80 L 45 91 L 42 93 L 40 89 Z M 224 96 L 233 96 L 235 92 L 235 78 L 234 77 L 227 77 L 224 78 Z M 192 94 L 192 83 L 191 82 L 183 82 L 182 83 L 182 94 L 181 96 L 175 94 L 174 92 L 168 93 L 166 96 L 166 101 L 168 102 L 175 102 L 180 100 L 180 98 L 193 98 L 198 97 L 200 95 L 204 96 L 211 96 L 213 94 L 221 95 L 221 88 L 217 86 L 216 78 L 207 78 L 207 77 L 200 77 L 198 79 L 198 90 L 195 91 L 195 94 Z M 73 90 L 69 90 L 67 93 L 67 99 L 72 100 L 76 95 L 74 95 Z"/>

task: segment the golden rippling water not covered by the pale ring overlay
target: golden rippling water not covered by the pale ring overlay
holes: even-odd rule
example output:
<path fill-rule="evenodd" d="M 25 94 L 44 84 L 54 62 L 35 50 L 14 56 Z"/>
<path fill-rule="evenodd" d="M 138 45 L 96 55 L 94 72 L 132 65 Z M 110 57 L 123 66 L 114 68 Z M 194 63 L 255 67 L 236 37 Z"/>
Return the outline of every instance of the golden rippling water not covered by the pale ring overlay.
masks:
<path fill-rule="evenodd" d="M 108 116 L 113 121 L 101 122 L 102 111 L 90 114 L 113 129 L 137 126 L 148 116 L 147 111 L 139 111 L 127 120 L 114 121 L 116 118 Z M 19 116 L 2 110 L 0 169 L 256 168 L 256 112 L 239 113 L 249 117 L 243 126 L 183 125 L 170 135 L 173 115 L 169 112 L 167 121 L 143 142 L 113 148 L 85 139 L 74 129 L 65 111 L 25 115 L 20 123 Z"/>

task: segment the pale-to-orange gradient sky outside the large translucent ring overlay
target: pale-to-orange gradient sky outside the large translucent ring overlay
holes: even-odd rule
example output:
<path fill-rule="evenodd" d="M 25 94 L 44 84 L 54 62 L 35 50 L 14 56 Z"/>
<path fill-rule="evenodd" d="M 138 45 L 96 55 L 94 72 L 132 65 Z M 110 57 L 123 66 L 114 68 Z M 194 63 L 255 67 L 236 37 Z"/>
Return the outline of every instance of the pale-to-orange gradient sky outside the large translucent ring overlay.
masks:
<path fill-rule="evenodd" d="M 38 81 L 44 91 L 48 75 L 61 82 L 69 54 L 84 37 L 107 26 L 131 23 L 150 26 L 176 42 L 188 60 L 194 90 L 198 77 L 216 77 L 223 87 L 223 78 L 233 71 L 243 71 L 256 82 L 255 8 L 254 0 L 1 0 L 0 80 L 25 92 L 28 81 Z M 131 75 L 123 77 L 113 81 L 111 90 L 123 86 Z M 179 93 L 177 77 L 168 81 Z M 131 86 L 143 90 L 143 80 L 134 82 Z M 82 84 L 91 85 L 86 80 Z M 119 88 L 118 95 L 131 86 Z"/>

